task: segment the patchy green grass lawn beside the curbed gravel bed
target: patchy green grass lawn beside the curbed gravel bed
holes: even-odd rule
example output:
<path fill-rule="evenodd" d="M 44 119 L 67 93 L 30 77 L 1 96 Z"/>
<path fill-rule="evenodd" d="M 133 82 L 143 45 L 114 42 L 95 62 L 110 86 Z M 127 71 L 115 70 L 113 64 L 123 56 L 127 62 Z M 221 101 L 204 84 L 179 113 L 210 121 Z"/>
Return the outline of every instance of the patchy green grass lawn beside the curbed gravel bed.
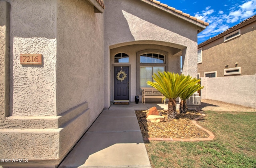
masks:
<path fill-rule="evenodd" d="M 145 141 L 152 168 L 256 168 L 256 112 L 206 111 L 204 142 Z"/>

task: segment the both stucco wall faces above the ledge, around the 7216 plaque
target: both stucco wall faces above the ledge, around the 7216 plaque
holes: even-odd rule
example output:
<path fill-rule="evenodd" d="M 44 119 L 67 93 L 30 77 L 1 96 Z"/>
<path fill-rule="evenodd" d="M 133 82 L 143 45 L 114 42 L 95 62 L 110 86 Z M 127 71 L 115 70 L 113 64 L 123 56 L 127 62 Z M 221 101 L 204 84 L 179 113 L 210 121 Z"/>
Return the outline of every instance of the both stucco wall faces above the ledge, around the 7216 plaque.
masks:
<path fill-rule="evenodd" d="M 56 115 L 85 101 L 103 102 L 103 14 L 84 0 L 8 2 L 11 115 Z M 42 54 L 43 64 L 22 66 L 20 54 Z"/>

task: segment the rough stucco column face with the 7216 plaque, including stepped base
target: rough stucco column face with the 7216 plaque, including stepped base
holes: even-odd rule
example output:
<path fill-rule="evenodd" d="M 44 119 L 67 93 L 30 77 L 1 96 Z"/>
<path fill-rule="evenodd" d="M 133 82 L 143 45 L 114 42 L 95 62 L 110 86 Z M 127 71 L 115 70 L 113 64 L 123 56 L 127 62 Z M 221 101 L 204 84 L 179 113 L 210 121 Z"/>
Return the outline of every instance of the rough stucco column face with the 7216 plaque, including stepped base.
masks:
<path fill-rule="evenodd" d="M 41 162 L 51 167 L 63 157 L 59 154 L 63 129 L 54 116 L 56 40 L 51 32 L 56 5 L 38 2 L 0 1 L 0 158 L 24 161 L 10 160 L 1 166 Z M 49 15 L 52 18 L 44 20 Z M 43 64 L 22 65 L 20 54 L 42 54 Z"/>

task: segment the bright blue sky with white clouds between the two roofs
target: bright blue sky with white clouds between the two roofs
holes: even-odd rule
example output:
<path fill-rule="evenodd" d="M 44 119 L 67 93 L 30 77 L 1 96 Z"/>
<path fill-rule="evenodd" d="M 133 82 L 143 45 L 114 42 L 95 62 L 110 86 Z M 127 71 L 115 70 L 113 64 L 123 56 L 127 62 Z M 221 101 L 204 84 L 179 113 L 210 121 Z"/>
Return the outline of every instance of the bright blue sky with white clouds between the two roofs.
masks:
<path fill-rule="evenodd" d="M 256 14 L 256 0 L 158 0 L 210 25 L 198 34 L 198 44 Z"/>

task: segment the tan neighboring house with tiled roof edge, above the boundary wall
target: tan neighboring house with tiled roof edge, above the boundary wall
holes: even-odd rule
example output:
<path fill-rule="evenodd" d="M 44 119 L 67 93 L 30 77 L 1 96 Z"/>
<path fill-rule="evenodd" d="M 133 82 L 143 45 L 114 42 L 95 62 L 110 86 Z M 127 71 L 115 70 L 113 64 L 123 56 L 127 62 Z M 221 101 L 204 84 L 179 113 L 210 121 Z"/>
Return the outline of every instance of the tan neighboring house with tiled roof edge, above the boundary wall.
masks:
<path fill-rule="evenodd" d="M 256 74 L 256 15 L 198 45 L 198 77 Z"/>

